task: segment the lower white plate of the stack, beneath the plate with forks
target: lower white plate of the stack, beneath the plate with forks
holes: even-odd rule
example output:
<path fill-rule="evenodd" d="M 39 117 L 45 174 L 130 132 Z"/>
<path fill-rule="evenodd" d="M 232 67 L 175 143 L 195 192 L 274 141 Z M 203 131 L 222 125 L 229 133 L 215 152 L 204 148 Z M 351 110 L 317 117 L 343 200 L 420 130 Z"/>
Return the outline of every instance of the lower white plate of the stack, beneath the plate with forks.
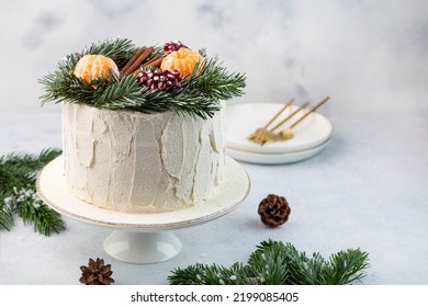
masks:
<path fill-rule="evenodd" d="M 285 164 L 308 159 L 322 151 L 330 139 L 314 148 L 286 154 L 256 154 L 226 148 L 226 154 L 236 160 L 256 164 Z"/>

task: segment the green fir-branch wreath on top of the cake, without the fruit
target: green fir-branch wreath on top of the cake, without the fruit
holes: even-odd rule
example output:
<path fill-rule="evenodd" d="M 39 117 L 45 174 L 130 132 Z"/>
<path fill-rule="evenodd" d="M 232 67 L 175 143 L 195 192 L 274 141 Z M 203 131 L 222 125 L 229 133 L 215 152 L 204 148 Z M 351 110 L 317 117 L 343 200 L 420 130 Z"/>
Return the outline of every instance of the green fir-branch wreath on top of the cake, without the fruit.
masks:
<path fill-rule="evenodd" d="M 193 73 L 183 78 L 182 88 L 171 92 L 144 88 L 134 75 L 121 75 L 119 78 L 111 75 L 109 78 L 87 82 L 72 73 L 83 55 L 108 56 L 121 69 L 136 49 L 129 39 L 115 38 L 92 44 L 81 53 L 66 56 L 58 61 L 55 72 L 40 80 L 45 88 L 45 93 L 41 96 L 42 104 L 55 101 L 142 113 L 174 111 L 206 118 L 219 110 L 219 101 L 244 93 L 245 75 L 228 72 L 216 56 L 196 65 Z M 200 52 L 206 57 L 204 49 Z M 162 49 L 155 47 L 151 56 L 156 54 L 162 54 Z"/>

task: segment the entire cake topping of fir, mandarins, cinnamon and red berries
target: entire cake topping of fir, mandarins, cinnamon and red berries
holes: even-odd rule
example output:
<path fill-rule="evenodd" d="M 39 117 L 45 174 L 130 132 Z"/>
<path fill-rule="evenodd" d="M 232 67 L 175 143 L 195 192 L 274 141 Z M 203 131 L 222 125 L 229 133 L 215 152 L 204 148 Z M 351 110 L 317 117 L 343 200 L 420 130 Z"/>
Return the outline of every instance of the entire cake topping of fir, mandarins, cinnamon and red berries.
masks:
<path fill-rule="evenodd" d="M 221 100 L 243 94 L 245 75 L 229 72 L 217 56 L 181 42 L 135 46 L 127 38 L 92 44 L 58 61 L 40 80 L 42 103 L 81 103 L 99 109 L 143 113 L 183 112 L 203 118 L 219 110 Z"/>

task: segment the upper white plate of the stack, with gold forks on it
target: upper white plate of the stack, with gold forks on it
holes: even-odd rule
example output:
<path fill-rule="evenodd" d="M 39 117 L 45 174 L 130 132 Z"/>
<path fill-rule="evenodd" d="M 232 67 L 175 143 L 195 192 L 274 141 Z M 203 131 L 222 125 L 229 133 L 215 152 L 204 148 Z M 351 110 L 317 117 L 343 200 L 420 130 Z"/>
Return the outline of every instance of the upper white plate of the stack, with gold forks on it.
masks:
<path fill-rule="evenodd" d="M 294 137 L 286 141 L 267 143 L 259 146 L 247 139 L 258 127 L 262 127 L 277 114 L 283 104 L 280 103 L 243 103 L 227 107 L 226 146 L 234 150 L 243 150 L 258 154 L 285 154 L 314 148 L 325 143 L 333 134 L 333 124 L 319 113 L 309 114 L 294 129 Z M 299 106 L 291 106 L 275 121 L 279 123 Z M 308 106 L 311 107 L 311 105 Z M 281 128 L 289 127 L 300 118 L 307 110 L 303 110 Z M 273 126 L 273 125 L 272 125 Z M 281 130 L 281 128 L 279 130 Z"/>

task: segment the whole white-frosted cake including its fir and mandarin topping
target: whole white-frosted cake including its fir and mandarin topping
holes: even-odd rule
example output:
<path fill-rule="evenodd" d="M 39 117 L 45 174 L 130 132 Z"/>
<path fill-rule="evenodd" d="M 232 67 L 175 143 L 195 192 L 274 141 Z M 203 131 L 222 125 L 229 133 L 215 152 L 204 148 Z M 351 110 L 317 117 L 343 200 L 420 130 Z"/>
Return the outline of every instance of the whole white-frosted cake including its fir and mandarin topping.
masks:
<path fill-rule="evenodd" d="M 42 79 L 43 102 L 61 103 L 64 177 L 74 196 L 135 214 L 215 197 L 225 184 L 225 100 L 241 94 L 244 75 L 180 42 L 136 47 L 120 38 L 58 68 Z"/>

